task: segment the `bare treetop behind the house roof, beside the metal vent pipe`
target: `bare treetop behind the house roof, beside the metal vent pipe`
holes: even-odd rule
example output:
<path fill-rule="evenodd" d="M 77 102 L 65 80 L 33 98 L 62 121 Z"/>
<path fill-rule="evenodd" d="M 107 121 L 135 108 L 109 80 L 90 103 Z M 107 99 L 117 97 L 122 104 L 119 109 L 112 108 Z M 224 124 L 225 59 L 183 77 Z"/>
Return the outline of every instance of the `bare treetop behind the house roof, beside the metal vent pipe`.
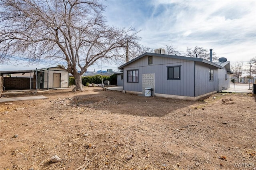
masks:
<path fill-rule="evenodd" d="M 194 47 L 192 48 L 187 48 L 186 55 L 188 57 L 194 57 L 194 58 L 202 58 L 206 60 L 210 60 L 210 52 L 203 48 L 203 47 Z M 212 53 L 212 61 L 218 61 L 218 57 L 216 56 L 216 53 Z"/>

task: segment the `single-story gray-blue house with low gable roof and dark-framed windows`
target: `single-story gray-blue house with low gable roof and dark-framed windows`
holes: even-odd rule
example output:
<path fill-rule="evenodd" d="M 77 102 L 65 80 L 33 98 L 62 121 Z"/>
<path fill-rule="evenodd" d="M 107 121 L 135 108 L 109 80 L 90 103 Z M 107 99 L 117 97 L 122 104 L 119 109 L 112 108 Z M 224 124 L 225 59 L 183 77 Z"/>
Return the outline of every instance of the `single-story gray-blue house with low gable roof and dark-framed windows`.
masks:
<path fill-rule="evenodd" d="M 123 90 L 128 93 L 144 94 L 152 88 L 154 96 L 197 100 L 218 91 L 218 78 L 229 77 L 229 65 L 228 61 L 216 64 L 201 58 L 144 53 L 118 69 L 123 70 Z M 229 87 L 228 81 L 222 86 Z"/>

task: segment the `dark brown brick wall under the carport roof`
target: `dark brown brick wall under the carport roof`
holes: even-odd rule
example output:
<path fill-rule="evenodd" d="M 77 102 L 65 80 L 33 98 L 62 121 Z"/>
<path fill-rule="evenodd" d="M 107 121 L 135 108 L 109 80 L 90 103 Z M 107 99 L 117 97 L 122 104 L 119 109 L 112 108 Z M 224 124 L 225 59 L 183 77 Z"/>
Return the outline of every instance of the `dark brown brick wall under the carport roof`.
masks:
<path fill-rule="evenodd" d="M 31 81 L 33 81 L 33 79 Z M 30 89 L 30 78 L 4 77 L 4 87 L 6 90 Z M 33 84 L 31 88 L 33 88 Z"/>

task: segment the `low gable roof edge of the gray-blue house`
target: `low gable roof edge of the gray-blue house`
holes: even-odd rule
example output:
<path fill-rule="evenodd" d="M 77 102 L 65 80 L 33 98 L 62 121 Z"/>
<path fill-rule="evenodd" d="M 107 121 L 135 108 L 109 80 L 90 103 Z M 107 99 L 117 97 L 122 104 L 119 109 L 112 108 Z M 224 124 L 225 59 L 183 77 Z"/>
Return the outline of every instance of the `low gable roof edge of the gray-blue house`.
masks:
<path fill-rule="evenodd" d="M 118 67 L 118 69 L 124 69 L 124 67 L 142 57 L 145 57 L 145 56 L 157 56 L 157 57 L 168 57 L 168 58 L 174 58 L 174 59 L 184 59 L 184 60 L 189 60 L 189 61 L 198 61 L 198 62 L 202 62 L 202 63 L 206 63 L 206 64 L 209 64 L 209 65 L 212 65 L 214 67 L 217 67 L 217 68 L 220 68 L 220 69 L 223 69 L 223 67 L 221 65 L 218 65 L 216 63 L 212 63 L 206 59 L 202 59 L 202 58 L 193 58 L 193 57 L 184 57 L 184 56 L 178 56 L 178 55 L 166 55 L 166 54 L 158 54 L 158 53 L 144 53 L 134 59 L 132 59 L 131 61 L 121 65 Z"/>

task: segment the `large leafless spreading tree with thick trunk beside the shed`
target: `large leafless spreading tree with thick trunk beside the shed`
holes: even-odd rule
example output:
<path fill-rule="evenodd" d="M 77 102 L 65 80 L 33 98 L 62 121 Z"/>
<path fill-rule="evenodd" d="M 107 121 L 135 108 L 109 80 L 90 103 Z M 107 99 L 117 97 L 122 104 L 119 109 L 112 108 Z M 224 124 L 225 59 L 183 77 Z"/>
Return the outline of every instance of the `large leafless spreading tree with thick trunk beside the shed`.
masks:
<path fill-rule="evenodd" d="M 0 5 L 0 61 L 13 56 L 65 61 L 77 90 L 90 65 L 122 57 L 126 41 L 140 39 L 133 28 L 107 26 L 106 6 L 97 0 L 0 0 Z"/>

